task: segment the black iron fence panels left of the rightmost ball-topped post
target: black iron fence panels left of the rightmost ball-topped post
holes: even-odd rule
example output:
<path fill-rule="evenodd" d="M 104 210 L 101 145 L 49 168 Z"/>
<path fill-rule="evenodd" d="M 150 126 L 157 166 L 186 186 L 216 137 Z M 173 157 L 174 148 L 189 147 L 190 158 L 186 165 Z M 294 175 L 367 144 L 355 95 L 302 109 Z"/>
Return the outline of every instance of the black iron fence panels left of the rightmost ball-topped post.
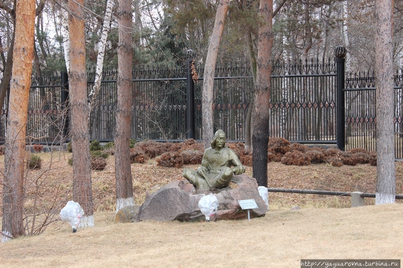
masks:
<path fill-rule="evenodd" d="M 202 139 L 201 89 L 203 69 L 195 69 L 194 138 Z M 183 140 L 188 136 L 188 68 L 148 68 L 132 71 L 131 138 Z M 253 98 L 253 77 L 248 65 L 216 68 L 214 80 L 214 124 L 228 140 L 245 139 L 247 113 Z M 270 103 L 270 136 L 305 143 L 335 143 L 335 64 L 333 61 L 297 61 L 273 65 Z M 88 92 L 95 72 L 88 72 Z M 90 139 L 113 140 L 117 101 L 116 70 L 105 70 L 96 105 L 90 115 Z M 64 85 L 63 85 L 64 84 Z M 62 86 L 63 85 L 63 86 Z M 68 79 L 60 76 L 33 77 L 28 109 L 28 142 L 60 143 L 68 140 Z M 4 141 L 8 97 L 0 117 Z"/>

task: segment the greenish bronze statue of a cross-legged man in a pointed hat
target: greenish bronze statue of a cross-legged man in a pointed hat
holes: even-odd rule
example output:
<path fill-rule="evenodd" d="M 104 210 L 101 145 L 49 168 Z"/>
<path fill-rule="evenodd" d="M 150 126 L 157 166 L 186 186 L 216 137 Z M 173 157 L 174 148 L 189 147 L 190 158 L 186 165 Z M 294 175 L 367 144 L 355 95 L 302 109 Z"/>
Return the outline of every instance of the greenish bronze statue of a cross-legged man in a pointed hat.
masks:
<path fill-rule="evenodd" d="M 235 152 L 225 148 L 225 133 L 221 129 L 214 134 L 211 148 L 205 150 L 201 166 L 197 170 L 183 169 L 183 176 L 196 190 L 210 190 L 226 187 L 230 184 L 232 174 L 242 174 L 245 167 Z M 231 166 L 234 166 L 231 168 Z"/>

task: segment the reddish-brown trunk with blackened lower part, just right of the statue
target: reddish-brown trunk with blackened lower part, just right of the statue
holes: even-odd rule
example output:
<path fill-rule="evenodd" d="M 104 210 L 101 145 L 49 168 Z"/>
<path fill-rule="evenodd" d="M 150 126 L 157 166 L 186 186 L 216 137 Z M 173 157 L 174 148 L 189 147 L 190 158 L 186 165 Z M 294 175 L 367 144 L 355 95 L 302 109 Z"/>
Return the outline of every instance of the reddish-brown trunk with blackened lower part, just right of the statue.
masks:
<path fill-rule="evenodd" d="M 260 0 L 257 42 L 257 72 L 253 140 L 253 177 L 259 186 L 267 187 L 267 143 L 269 124 L 270 80 L 272 74 L 273 0 Z"/>

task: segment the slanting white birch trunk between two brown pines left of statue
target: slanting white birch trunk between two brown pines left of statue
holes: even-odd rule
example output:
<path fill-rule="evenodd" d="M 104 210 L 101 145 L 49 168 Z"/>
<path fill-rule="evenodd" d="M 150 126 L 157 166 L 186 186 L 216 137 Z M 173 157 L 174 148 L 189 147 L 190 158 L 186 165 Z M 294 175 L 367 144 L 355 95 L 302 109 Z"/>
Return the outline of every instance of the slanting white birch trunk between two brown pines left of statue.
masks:
<path fill-rule="evenodd" d="M 106 47 L 106 40 L 108 37 L 108 31 L 109 31 L 109 26 L 110 26 L 110 18 L 112 16 L 112 7 L 113 7 L 113 1 L 108 0 L 106 2 L 106 10 L 105 10 L 105 16 L 104 16 L 104 24 L 102 26 L 102 34 L 101 38 L 98 43 L 98 56 L 97 56 L 97 67 L 95 70 L 95 82 L 94 86 L 92 87 L 92 90 L 89 94 L 89 99 L 90 101 L 90 113 L 88 114 L 88 117 L 91 114 L 91 111 L 94 109 L 95 106 L 95 100 L 98 96 L 99 88 L 101 88 L 101 79 L 102 79 L 102 69 L 103 69 L 103 62 L 105 58 L 105 47 Z"/>

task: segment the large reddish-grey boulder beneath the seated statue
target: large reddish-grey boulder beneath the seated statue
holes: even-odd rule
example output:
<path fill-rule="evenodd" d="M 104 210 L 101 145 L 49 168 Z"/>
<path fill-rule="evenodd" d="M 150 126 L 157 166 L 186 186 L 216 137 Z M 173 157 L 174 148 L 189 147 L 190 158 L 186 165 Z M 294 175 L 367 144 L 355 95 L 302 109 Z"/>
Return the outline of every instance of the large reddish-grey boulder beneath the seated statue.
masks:
<path fill-rule="evenodd" d="M 234 175 L 229 187 L 217 189 L 213 194 L 217 197 L 219 207 L 216 214 L 210 217 L 215 220 L 247 219 L 247 210 L 242 210 L 238 200 L 254 199 L 258 208 L 250 210 L 250 217 L 263 217 L 267 205 L 257 191 L 256 180 L 246 174 Z M 137 221 L 200 221 L 205 216 L 198 207 L 199 200 L 212 193 L 197 193 L 187 180 L 170 183 L 157 190 L 143 203 L 139 209 Z"/>

